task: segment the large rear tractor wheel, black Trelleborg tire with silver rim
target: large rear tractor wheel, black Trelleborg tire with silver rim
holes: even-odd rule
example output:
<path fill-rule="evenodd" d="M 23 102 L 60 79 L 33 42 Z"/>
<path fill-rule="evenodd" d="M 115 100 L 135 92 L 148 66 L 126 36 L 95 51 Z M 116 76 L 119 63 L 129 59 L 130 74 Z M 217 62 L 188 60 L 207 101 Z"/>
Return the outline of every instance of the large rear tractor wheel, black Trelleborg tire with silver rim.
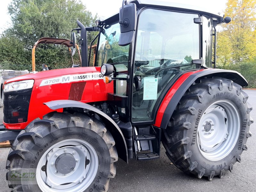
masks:
<path fill-rule="evenodd" d="M 219 77 L 194 83 L 164 130 L 166 154 L 180 170 L 198 178 L 232 172 L 252 134 L 252 107 L 242 87 Z"/>

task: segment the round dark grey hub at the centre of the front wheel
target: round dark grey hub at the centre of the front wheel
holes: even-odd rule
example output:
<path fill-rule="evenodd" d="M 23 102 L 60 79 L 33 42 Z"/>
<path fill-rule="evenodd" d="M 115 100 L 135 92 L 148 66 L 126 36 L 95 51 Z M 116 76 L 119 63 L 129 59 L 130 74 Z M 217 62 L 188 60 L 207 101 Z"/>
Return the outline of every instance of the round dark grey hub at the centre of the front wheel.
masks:
<path fill-rule="evenodd" d="M 70 153 L 61 154 L 55 161 L 55 167 L 58 172 L 68 174 L 74 170 L 76 166 L 76 159 Z"/>

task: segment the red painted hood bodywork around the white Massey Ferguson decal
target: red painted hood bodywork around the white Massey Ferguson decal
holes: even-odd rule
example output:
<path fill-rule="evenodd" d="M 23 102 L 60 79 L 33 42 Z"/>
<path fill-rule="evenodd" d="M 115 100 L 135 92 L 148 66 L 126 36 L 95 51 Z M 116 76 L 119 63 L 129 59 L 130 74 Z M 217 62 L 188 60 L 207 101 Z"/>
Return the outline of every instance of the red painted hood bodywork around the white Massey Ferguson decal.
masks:
<path fill-rule="evenodd" d="M 52 100 L 68 100 L 71 85 L 78 82 L 86 82 L 84 91 L 82 94 L 81 102 L 95 102 L 108 100 L 108 93 L 114 92 L 113 82 L 105 84 L 103 79 L 93 79 L 93 80 L 83 80 L 70 83 L 59 83 L 40 86 L 41 82 L 45 79 L 55 78 L 59 76 L 66 75 L 79 75 L 84 73 L 99 73 L 100 67 L 83 67 L 83 68 L 66 68 L 66 69 L 56 69 L 43 71 L 36 74 L 28 74 L 24 76 L 14 77 L 5 82 L 11 83 L 14 81 L 21 81 L 26 79 L 34 79 L 35 83 L 33 86 L 29 109 L 28 109 L 28 121 L 19 124 L 6 124 L 4 123 L 6 129 L 24 129 L 31 121 L 37 117 L 43 118 L 47 113 L 52 112 L 43 103 Z M 62 112 L 62 109 L 57 110 Z"/>

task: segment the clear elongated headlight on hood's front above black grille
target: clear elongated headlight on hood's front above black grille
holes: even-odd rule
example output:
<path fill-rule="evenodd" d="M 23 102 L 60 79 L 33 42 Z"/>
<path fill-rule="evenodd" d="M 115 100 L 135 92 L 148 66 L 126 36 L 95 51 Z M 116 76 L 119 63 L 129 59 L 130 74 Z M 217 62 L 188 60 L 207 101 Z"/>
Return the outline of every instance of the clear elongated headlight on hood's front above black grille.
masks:
<path fill-rule="evenodd" d="M 19 91 L 23 89 L 30 89 L 34 85 L 34 80 L 25 80 L 25 81 L 17 81 L 13 83 L 8 83 L 4 85 L 4 92 L 10 92 L 10 91 Z"/>

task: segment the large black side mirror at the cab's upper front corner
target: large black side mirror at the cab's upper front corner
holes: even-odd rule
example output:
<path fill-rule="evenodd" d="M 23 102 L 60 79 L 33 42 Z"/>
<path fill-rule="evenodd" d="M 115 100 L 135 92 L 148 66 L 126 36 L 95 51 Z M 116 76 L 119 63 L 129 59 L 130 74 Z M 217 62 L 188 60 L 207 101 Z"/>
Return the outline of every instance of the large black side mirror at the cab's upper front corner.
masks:
<path fill-rule="evenodd" d="M 137 8 L 136 4 L 123 0 L 122 8 L 119 10 L 119 24 L 121 34 L 118 44 L 126 46 L 132 43 L 136 25 L 137 25 Z"/>

